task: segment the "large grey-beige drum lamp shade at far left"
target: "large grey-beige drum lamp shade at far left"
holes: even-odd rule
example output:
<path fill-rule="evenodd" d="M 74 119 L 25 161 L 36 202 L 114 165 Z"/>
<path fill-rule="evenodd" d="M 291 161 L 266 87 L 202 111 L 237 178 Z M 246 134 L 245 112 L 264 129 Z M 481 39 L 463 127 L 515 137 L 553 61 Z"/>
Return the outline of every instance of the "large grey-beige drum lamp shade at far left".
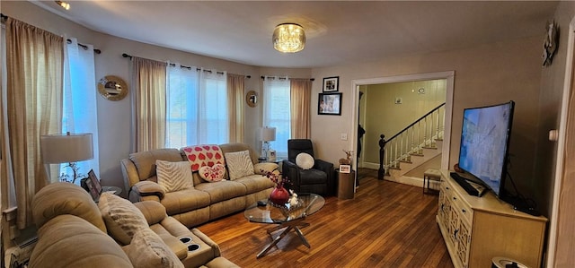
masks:
<path fill-rule="evenodd" d="M 40 136 L 40 150 L 45 164 L 93 159 L 92 134 L 49 134 Z"/>

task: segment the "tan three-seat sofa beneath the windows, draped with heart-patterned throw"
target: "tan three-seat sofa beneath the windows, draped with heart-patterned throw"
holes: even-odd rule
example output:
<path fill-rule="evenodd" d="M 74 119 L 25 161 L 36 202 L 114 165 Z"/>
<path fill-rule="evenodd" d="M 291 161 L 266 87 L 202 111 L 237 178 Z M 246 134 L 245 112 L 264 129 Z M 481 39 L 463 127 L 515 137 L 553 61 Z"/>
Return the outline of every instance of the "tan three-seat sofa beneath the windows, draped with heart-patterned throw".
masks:
<path fill-rule="evenodd" d="M 245 143 L 219 145 L 221 151 L 249 151 L 253 175 L 210 183 L 193 173 L 193 187 L 166 193 L 157 183 L 156 160 L 186 161 L 185 153 L 178 149 L 159 149 L 132 153 L 120 160 L 128 199 L 132 202 L 154 200 L 164 205 L 168 215 L 189 228 L 230 213 L 241 212 L 258 200 L 268 198 L 274 184 L 261 170 L 278 169 L 275 163 L 258 163 L 255 151 Z M 226 165 L 227 168 L 227 165 Z M 226 178 L 229 174 L 226 172 Z"/>

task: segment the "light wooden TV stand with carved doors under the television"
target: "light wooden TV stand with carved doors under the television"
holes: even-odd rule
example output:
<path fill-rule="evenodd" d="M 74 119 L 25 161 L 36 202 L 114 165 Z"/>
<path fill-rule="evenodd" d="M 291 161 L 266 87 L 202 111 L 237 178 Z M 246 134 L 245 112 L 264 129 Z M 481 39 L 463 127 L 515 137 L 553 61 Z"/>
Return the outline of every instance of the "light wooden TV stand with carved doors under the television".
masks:
<path fill-rule="evenodd" d="M 449 170 L 441 170 L 438 221 L 451 261 L 457 267 L 491 267 L 493 257 L 540 267 L 545 217 L 513 210 L 491 191 L 468 195 Z"/>

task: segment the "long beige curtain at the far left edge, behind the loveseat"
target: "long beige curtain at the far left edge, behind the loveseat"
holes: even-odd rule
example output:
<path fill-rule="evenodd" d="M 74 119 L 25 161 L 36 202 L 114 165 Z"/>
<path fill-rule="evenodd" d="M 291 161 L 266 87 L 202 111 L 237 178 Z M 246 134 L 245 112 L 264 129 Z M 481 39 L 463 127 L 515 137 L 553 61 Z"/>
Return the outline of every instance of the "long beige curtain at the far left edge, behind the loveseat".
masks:
<path fill-rule="evenodd" d="M 49 31 L 8 18 L 6 25 L 7 122 L 3 120 L 2 196 L 15 197 L 16 224 L 32 224 L 31 199 L 47 185 L 40 157 L 40 135 L 61 129 L 64 39 Z M 4 117 L 4 115 L 3 115 Z M 4 125 L 5 124 L 5 125 Z M 8 134 L 4 135 L 4 129 Z M 13 177 L 8 177 L 12 170 Z M 9 198 L 10 199 L 10 198 Z M 9 200 L 13 205 L 13 200 Z"/>

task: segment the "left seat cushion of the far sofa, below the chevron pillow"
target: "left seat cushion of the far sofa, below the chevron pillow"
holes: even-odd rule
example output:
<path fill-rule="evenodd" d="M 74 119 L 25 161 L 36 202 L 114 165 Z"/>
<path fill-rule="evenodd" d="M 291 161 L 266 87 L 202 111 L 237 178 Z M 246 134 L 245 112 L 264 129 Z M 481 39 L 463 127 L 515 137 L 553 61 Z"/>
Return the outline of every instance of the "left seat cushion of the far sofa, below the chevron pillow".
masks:
<path fill-rule="evenodd" d="M 203 183 L 208 184 L 208 183 Z M 199 184 L 203 185 L 203 184 Z M 167 193 L 160 201 L 165 207 L 168 215 L 179 214 L 181 212 L 190 212 L 207 207 L 210 203 L 208 193 L 195 189 L 185 189 L 178 192 Z"/>

